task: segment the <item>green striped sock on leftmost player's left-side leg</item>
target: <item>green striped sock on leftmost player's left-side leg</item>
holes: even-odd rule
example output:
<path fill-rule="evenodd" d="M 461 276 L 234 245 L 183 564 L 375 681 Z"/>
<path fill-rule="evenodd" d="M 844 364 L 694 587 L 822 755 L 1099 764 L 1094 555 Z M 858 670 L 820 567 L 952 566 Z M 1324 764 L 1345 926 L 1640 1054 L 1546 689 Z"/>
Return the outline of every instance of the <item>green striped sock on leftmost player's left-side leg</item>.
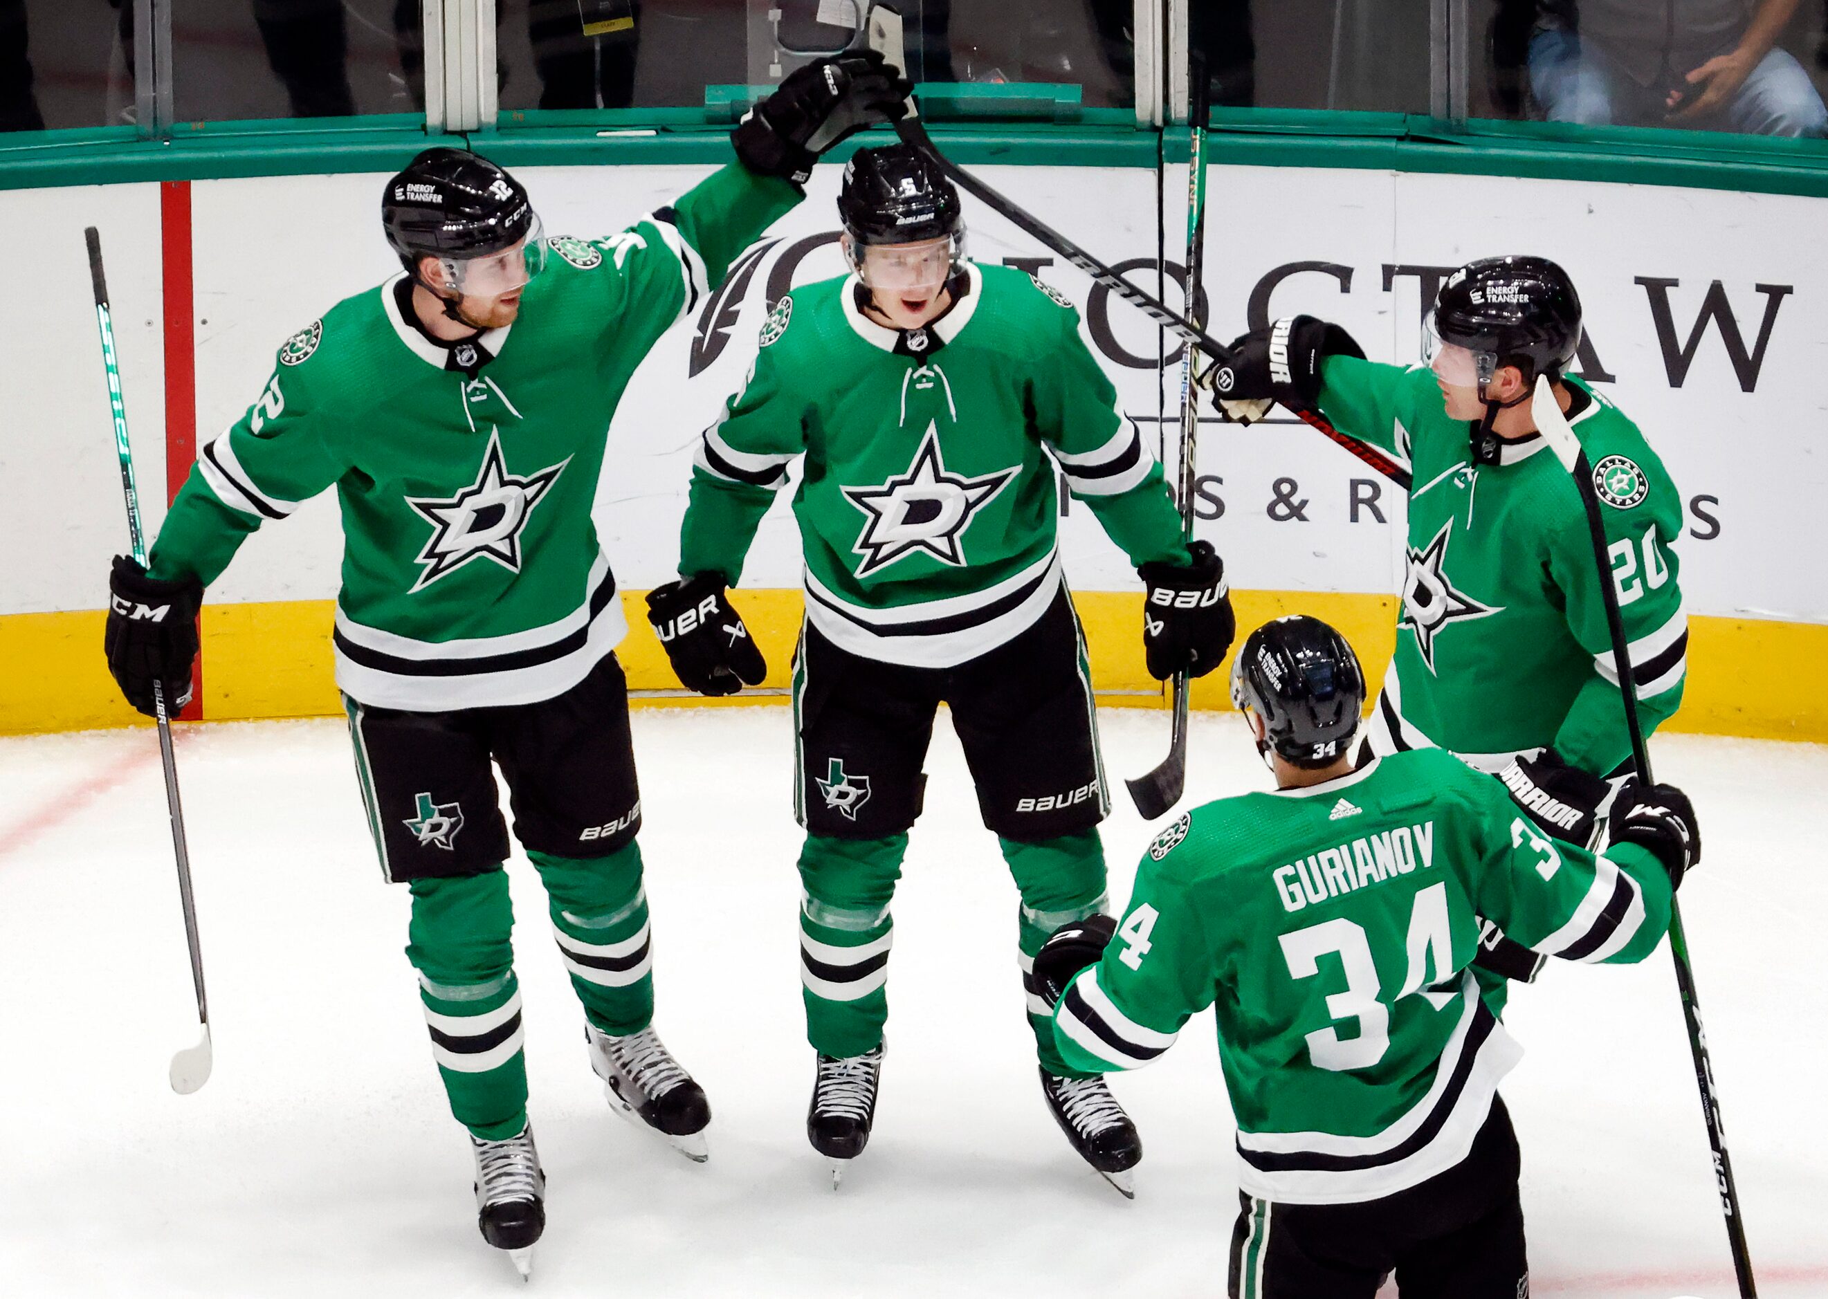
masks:
<path fill-rule="evenodd" d="M 526 1127 L 521 988 L 514 977 L 508 875 L 417 879 L 406 959 L 452 1114 L 483 1140 Z"/>

